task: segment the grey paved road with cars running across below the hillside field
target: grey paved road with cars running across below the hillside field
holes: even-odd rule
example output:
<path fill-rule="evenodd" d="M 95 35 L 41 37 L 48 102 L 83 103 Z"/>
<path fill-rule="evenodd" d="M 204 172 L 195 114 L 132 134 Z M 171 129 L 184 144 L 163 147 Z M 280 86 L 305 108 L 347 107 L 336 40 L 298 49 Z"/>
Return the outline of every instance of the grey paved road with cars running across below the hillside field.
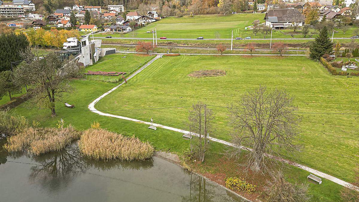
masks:
<path fill-rule="evenodd" d="M 102 38 L 107 39 L 106 37 L 94 37 L 94 38 Z M 112 37 L 112 39 L 134 39 L 134 40 L 152 40 L 152 38 L 132 38 L 132 37 Z M 272 40 L 313 40 L 314 38 L 272 38 Z M 351 39 L 351 38 L 333 38 L 333 39 Z M 359 38 L 355 38 L 359 39 Z M 205 38 L 202 40 L 197 40 L 195 38 L 167 38 L 167 39 L 159 39 L 157 41 L 166 41 L 166 40 L 195 40 L 195 41 L 202 41 L 202 40 L 231 40 L 230 38 Z M 234 40 L 234 39 L 233 39 Z M 244 39 L 245 41 L 256 41 L 256 40 L 270 40 L 270 38 L 252 38 L 252 39 Z"/>

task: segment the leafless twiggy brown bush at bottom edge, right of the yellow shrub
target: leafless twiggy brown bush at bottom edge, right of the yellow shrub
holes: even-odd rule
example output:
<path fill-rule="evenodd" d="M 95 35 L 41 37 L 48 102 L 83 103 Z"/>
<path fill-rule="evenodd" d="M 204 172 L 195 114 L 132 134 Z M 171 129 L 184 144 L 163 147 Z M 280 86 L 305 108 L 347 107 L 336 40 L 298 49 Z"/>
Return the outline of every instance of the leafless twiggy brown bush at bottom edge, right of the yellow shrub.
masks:
<path fill-rule="evenodd" d="M 308 194 L 308 184 L 292 184 L 284 179 L 282 171 L 271 173 L 271 181 L 264 187 L 268 201 L 304 202 L 311 197 Z"/>

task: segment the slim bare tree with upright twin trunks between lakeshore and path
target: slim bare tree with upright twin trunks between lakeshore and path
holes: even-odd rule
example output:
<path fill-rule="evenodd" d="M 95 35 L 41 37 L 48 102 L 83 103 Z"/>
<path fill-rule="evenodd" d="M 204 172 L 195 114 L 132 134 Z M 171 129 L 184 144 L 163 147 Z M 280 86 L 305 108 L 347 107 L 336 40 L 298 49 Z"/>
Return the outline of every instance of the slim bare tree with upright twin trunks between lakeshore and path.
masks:
<path fill-rule="evenodd" d="M 194 151 L 194 153 L 199 156 L 199 160 L 202 162 L 204 161 L 205 153 L 208 147 L 207 135 L 211 130 L 212 119 L 212 111 L 208 109 L 207 105 L 202 103 L 192 105 L 192 109 L 188 115 L 188 127 L 191 134 L 196 133 L 199 137 L 194 138 L 194 141 L 191 141 L 191 149 L 193 147 L 197 147 L 197 150 Z M 192 146 L 192 144 L 194 145 Z"/>

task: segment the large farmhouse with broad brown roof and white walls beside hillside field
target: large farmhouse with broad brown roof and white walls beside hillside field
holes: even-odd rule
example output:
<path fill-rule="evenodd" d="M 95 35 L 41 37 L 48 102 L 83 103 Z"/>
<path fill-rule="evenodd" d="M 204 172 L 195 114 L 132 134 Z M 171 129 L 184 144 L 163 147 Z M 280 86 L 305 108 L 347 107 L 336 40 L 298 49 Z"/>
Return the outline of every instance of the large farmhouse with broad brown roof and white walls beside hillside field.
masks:
<path fill-rule="evenodd" d="M 293 23 L 303 26 L 306 18 L 297 9 L 270 9 L 264 19 L 266 20 L 266 26 L 280 29 L 290 27 Z"/>

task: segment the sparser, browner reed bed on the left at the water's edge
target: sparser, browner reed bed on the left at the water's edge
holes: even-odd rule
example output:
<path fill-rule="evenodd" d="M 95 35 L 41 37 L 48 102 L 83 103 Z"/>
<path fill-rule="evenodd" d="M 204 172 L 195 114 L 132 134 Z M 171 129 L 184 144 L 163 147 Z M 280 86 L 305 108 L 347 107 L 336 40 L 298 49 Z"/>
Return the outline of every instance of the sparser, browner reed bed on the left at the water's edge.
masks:
<path fill-rule="evenodd" d="M 27 151 L 40 155 L 60 151 L 79 137 L 80 134 L 71 125 L 59 128 L 27 128 L 8 138 L 4 148 L 8 151 Z"/>

